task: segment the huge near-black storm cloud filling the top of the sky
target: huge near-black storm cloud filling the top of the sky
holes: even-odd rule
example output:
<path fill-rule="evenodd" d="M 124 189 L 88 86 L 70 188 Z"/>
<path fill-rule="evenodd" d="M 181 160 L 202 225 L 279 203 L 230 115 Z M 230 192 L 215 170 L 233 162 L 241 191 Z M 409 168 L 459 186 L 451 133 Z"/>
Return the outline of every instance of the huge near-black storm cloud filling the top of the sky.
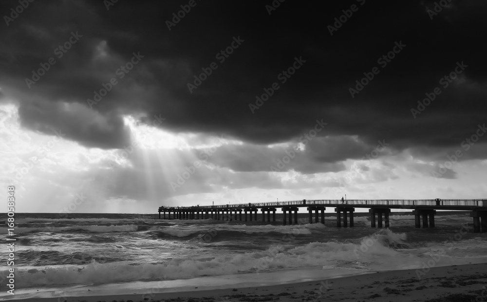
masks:
<path fill-rule="evenodd" d="M 329 126 L 320 136 L 356 135 L 367 146 L 385 139 L 395 150 L 455 147 L 472 127 L 485 123 L 486 41 L 479 36 L 487 24 L 484 1 L 450 1 L 432 20 L 427 10 L 433 1 L 349 1 L 324 8 L 286 1 L 270 16 L 265 4 L 271 1 L 196 3 L 169 31 L 166 20 L 186 2 L 118 1 L 108 11 L 99 1 L 34 2 L 0 34 L 2 81 L 13 96 L 23 91 L 31 98 L 87 106 L 94 91 L 140 51 L 141 62 L 92 109 L 111 130 L 94 127 L 88 118 L 77 122 L 94 131 L 69 136 L 100 148 L 119 148 L 125 140 L 123 124 L 110 117 L 115 113 L 162 114 L 168 117 L 164 127 L 174 131 L 223 133 L 259 144 L 292 140 L 323 118 Z M 352 4 L 358 10 L 330 35 L 327 26 Z M 6 14 L 10 6 L 0 9 Z M 27 89 L 25 78 L 73 31 L 83 37 Z M 216 54 L 234 37 L 244 42 L 220 62 Z M 377 60 L 395 42 L 405 46 L 381 66 Z M 282 83 L 281 72 L 300 57 L 306 62 Z M 218 67 L 190 93 L 187 84 L 212 62 Z M 457 62 L 468 67 L 444 88 L 439 81 Z M 352 98 L 349 88 L 373 67 L 379 73 Z M 249 103 L 273 83 L 279 89 L 252 114 Z M 414 118 L 411 109 L 435 87 L 442 93 Z M 33 102 L 19 101 L 23 124 L 31 129 L 56 128 L 72 117 L 63 110 L 56 111 L 57 118 L 37 117 L 30 114 Z M 49 108 L 44 104 L 42 110 Z M 110 140 L 100 139 L 109 134 Z M 345 142 L 322 151 L 315 160 L 323 163 L 368 152 Z M 253 166 L 260 170 L 259 165 Z"/>

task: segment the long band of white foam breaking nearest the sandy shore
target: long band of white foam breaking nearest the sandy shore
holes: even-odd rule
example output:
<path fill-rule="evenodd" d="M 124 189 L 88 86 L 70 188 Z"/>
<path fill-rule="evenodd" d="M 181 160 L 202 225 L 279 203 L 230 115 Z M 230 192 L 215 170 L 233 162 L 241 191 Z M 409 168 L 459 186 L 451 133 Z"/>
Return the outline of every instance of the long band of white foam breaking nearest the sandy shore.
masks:
<path fill-rule="evenodd" d="M 374 239 L 367 251 L 357 255 L 362 244 Z M 392 247 L 406 240 L 404 234 L 381 230 L 356 242 L 312 242 L 294 248 L 272 246 L 259 252 L 218 255 L 212 259 L 173 258 L 160 264 L 104 263 L 87 266 L 57 266 L 28 272 L 18 269 L 19 287 L 107 284 L 115 282 L 173 280 L 198 276 L 215 276 L 251 271 L 337 266 L 365 269 L 364 263 L 400 256 Z"/>

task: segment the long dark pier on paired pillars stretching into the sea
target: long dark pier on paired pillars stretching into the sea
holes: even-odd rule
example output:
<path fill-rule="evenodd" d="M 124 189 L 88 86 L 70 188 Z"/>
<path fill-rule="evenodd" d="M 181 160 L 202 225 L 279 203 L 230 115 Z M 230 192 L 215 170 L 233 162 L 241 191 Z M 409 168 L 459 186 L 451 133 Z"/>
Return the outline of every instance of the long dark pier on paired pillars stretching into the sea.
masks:
<path fill-rule="evenodd" d="M 337 212 L 337 227 L 353 227 L 356 208 L 369 209 L 371 227 L 373 228 L 389 227 L 389 214 L 391 213 L 391 209 L 411 209 L 412 212 L 410 213 L 414 215 L 414 225 L 416 228 L 433 228 L 436 210 L 449 210 L 466 211 L 473 218 L 473 231 L 475 233 L 487 232 L 487 199 L 299 200 L 214 206 L 161 206 L 159 207 L 159 219 L 161 219 L 162 213 L 164 219 L 212 218 L 230 221 L 252 221 L 252 218 L 254 218 L 257 221 L 258 212 L 260 211 L 262 221 L 275 222 L 276 211 L 281 208 L 284 214 L 283 224 L 286 225 L 297 224 L 298 211 L 300 208 L 305 208 L 308 211 L 309 223 L 324 224 L 325 210 L 327 207 L 335 208 L 335 212 Z M 244 212 L 244 215 L 242 215 L 242 212 Z M 166 214 L 168 215 L 167 217 Z"/>

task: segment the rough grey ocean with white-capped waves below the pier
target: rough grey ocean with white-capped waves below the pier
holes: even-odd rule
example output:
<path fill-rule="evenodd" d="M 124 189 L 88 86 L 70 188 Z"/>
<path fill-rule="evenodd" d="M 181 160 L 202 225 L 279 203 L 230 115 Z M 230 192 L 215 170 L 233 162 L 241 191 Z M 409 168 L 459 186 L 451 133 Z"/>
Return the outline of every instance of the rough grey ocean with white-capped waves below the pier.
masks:
<path fill-rule="evenodd" d="M 156 214 L 15 218 L 15 289 L 24 297 L 80 286 L 131 290 L 157 281 L 166 287 L 231 287 L 487 262 L 487 234 L 472 232 L 468 212 L 438 215 L 429 229 L 414 228 L 412 215 L 392 215 L 389 229 L 371 228 L 369 217 L 356 217 L 352 228 L 337 228 L 335 217 L 327 217 L 325 225 L 300 218 L 287 226 L 165 220 Z M 11 242 L 6 232 L 0 230 L 2 246 Z M 3 279 L 8 272 L 6 260 L 1 262 Z M 11 297 L 2 289 L 0 298 Z"/>

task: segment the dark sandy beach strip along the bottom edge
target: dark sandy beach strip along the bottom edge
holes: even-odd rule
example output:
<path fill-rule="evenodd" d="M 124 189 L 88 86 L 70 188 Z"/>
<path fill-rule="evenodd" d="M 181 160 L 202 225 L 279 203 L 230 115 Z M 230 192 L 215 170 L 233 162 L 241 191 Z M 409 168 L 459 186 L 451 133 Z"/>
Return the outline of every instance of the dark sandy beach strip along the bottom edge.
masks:
<path fill-rule="evenodd" d="M 419 276 L 419 278 L 418 278 Z M 184 292 L 72 298 L 16 299 L 32 302 L 230 302 L 230 301 L 420 301 L 487 300 L 487 263 L 395 270 L 294 284 Z"/>

